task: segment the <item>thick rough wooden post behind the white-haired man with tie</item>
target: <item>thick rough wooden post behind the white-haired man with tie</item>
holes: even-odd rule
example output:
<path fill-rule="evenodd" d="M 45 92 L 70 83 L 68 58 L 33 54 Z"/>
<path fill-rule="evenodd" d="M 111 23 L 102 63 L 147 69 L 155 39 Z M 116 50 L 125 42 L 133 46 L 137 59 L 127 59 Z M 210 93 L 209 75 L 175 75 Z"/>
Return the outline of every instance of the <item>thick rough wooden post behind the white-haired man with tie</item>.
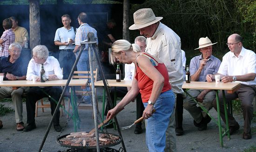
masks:
<path fill-rule="evenodd" d="M 30 49 L 40 45 L 40 3 L 39 0 L 29 0 L 29 29 L 30 29 Z"/>

